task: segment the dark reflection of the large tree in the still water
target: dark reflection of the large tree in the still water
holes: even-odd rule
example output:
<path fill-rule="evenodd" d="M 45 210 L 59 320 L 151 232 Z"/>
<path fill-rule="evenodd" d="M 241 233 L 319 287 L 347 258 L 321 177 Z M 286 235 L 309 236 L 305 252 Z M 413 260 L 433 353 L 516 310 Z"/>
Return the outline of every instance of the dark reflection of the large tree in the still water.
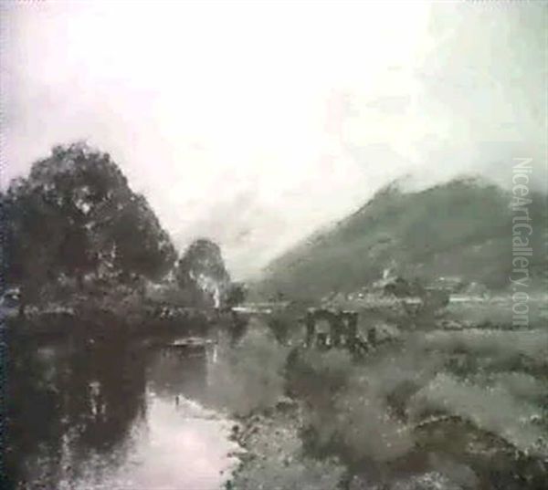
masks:
<path fill-rule="evenodd" d="M 48 363 L 37 360 L 36 352 L 28 342 L 10 352 L 16 358 L 10 370 L 7 470 L 12 484 L 40 478 L 43 487 L 56 488 L 61 472 L 76 478 L 90 453 L 106 458 L 127 439 L 144 412 L 145 360 L 121 335 L 58 353 Z M 21 463 L 34 465 L 39 454 L 47 457 L 47 475 Z M 68 461 L 63 468 L 62 458 Z M 31 484 L 38 482 L 24 487 Z"/>

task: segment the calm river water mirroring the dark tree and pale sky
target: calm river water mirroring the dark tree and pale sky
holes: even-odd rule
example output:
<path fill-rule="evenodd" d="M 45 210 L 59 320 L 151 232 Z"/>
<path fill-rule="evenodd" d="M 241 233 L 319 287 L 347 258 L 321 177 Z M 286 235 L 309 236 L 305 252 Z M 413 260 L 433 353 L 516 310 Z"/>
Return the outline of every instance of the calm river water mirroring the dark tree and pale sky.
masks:
<path fill-rule="evenodd" d="M 237 459 L 214 406 L 215 347 L 42 346 L 10 376 L 18 488 L 217 490 Z"/>

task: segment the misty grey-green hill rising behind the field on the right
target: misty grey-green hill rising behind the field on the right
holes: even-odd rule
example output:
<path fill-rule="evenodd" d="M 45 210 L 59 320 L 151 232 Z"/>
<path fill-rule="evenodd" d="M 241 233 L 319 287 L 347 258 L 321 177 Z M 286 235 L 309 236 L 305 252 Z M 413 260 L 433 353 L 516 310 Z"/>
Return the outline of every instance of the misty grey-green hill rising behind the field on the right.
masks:
<path fill-rule="evenodd" d="M 538 285 L 546 260 L 542 235 L 548 201 L 541 193 L 529 197 L 535 251 L 530 270 Z M 351 291 L 377 279 L 386 267 L 426 281 L 459 276 L 494 289 L 508 287 L 510 204 L 510 192 L 475 178 L 413 193 L 393 183 L 356 213 L 271 263 L 258 292 L 317 297 Z"/>

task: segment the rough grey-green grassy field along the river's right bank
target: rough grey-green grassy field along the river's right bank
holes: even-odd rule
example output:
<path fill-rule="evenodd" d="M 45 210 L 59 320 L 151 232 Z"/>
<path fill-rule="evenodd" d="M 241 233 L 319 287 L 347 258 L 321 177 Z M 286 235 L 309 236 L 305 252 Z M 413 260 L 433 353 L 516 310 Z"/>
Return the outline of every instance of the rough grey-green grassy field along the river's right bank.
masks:
<path fill-rule="evenodd" d="M 246 430 L 237 438 L 251 454 L 236 487 L 331 489 L 323 464 L 352 490 L 543 488 L 545 310 L 532 304 L 531 328 L 511 328 L 507 299 L 450 304 L 427 328 L 394 304 L 368 305 L 360 331 L 385 337 L 360 360 L 301 348 L 302 326 L 281 312 L 252 320 L 219 370 L 239 390 L 231 402 Z"/>

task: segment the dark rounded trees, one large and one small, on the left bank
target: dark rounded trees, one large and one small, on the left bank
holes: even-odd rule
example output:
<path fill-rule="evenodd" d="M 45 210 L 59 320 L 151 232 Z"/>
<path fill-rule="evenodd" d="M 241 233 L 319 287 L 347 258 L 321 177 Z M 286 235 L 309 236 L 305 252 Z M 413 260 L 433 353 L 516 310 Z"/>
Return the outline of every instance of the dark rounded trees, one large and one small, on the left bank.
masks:
<path fill-rule="evenodd" d="M 198 240 L 178 259 L 142 194 L 108 153 L 85 143 L 58 146 L 0 194 L 2 277 L 21 305 L 59 284 L 135 285 L 168 272 L 194 297 L 225 297 L 230 277 L 219 247 Z M 216 284 L 214 284 L 216 283 Z"/>

